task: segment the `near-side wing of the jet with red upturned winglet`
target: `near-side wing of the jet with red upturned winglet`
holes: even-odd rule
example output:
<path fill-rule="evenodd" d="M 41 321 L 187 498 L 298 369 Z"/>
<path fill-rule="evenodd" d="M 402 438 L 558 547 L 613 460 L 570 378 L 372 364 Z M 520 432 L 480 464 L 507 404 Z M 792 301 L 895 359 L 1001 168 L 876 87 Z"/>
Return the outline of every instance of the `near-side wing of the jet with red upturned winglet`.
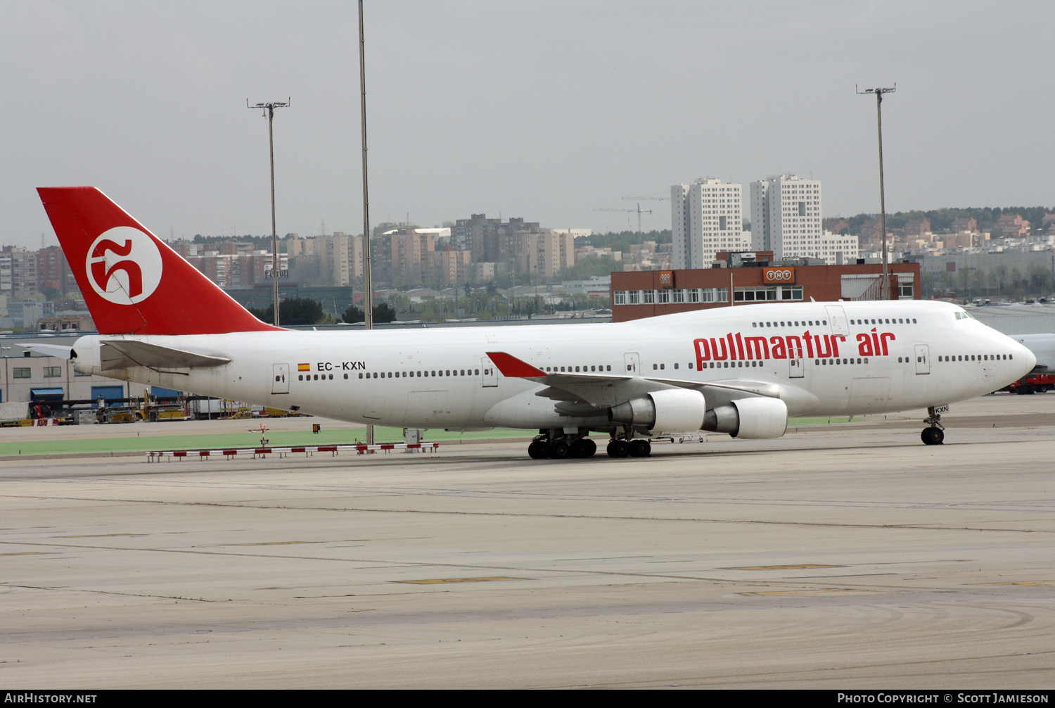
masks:
<path fill-rule="evenodd" d="M 502 376 L 528 379 L 543 383 L 546 388 L 535 394 L 558 401 L 560 412 L 578 412 L 586 415 L 588 408 L 612 406 L 653 390 L 664 388 L 692 388 L 704 394 L 708 401 L 716 404 L 751 396 L 780 398 L 781 387 L 762 381 L 687 381 L 659 377 L 633 377 L 612 374 L 546 372 L 517 359 L 504 351 L 488 351 L 487 357 Z M 583 406 L 583 404 L 587 404 Z M 571 413 L 569 415 L 572 415 Z"/>

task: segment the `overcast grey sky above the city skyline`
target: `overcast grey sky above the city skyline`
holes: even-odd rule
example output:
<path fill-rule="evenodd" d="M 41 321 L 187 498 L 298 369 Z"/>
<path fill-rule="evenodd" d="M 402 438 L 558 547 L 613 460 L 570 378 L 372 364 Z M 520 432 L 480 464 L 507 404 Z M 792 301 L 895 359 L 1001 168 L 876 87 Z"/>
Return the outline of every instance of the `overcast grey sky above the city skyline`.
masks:
<path fill-rule="evenodd" d="M 366 3 L 370 221 L 628 228 L 701 176 L 823 183 L 825 216 L 1055 204 L 1050 2 Z M 93 185 L 158 235 L 362 231 L 356 3 L 0 3 L 0 244 Z M 642 203 L 646 229 L 669 202 Z M 747 214 L 746 214 L 747 215 Z"/>

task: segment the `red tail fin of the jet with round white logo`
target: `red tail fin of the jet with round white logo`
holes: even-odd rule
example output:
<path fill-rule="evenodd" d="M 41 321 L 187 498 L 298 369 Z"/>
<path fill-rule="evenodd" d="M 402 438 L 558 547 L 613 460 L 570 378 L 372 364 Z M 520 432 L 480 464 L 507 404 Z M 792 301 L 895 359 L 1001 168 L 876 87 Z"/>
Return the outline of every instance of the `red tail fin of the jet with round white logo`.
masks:
<path fill-rule="evenodd" d="M 37 190 L 102 334 L 275 329 L 94 187 Z"/>

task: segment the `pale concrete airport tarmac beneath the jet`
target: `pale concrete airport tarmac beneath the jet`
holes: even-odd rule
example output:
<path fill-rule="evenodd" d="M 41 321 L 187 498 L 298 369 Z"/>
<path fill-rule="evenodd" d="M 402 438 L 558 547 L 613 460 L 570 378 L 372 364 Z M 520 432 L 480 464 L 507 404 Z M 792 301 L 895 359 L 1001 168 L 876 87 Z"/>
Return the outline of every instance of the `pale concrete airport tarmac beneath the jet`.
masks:
<path fill-rule="evenodd" d="M 939 446 L 921 417 L 649 459 L 7 457 L 0 685 L 1051 688 L 1055 394 L 956 404 Z"/>

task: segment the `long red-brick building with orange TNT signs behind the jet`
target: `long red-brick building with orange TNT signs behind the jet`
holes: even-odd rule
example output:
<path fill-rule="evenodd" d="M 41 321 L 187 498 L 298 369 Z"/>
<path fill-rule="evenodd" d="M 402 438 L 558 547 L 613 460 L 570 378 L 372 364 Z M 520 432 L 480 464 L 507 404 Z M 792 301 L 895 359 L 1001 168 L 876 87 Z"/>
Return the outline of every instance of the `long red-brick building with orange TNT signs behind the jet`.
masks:
<path fill-rule="evenodd" d="M 882 295 L 883 265 L 879 263 L 770 266 L 771 253 L 750 255 L 752 260 L 740 267 L 614 272 L 612 321 L 729 307 L 730 290 L 733 306 L 810 298 L 818 302 L 880 300 Z M 891 263 L 888 272 L 890 300 L 919 300 L 918 263 Z"/>

